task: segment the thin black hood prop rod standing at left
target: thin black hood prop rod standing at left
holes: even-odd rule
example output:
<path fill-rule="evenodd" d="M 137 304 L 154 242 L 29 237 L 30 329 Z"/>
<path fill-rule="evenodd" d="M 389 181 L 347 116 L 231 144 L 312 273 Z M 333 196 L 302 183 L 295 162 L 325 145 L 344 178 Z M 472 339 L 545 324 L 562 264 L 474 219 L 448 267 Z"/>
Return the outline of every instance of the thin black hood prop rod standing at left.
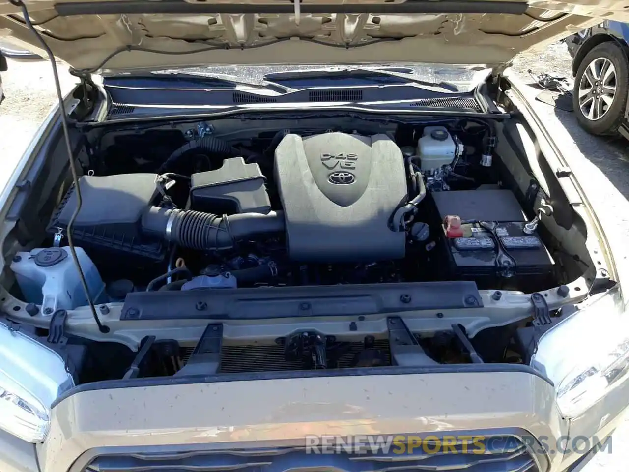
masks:
<path fill-rule="evenodd" d="M 77 176 L 77 169 L 74 164 L 74 156 L 72 153 L 72 145 L 70 144 L 70 133 L 68 131 L 68 115 L 67 111 L 65 111 L 64 106 L 64 96 L 61 94 L 61 84 L 59 83 L 59 75 L 57 73 L 57 63 L 55 62 L 55 55 L 52 53 L 50 47 L 48 47 L 47 43 L 43 40 L 42 35 L 40 35 L 39 31 L 33 26 L 31 22 L 30 16 L 28 15 L 28 9 L 26 9 L 26 5 L 21 0 L 9 0 L 13 6 L 17 6 L 22 9 L 22 15 L 24 16 L 24 21 L 28 29 L 33 32 L 33 35 L 37 38 L 37 40 L 42 45 L 42 48 L 48 54 L 48 60 L 50 61 L 50 65 L 52 66 L 52 74 L 55 77 L 55 88 L 57 89 L 57 100 L 59 102 L 59 115 L 61 116 L 61 125 L 64 129 L 64 138 L 65 138 L 65 147 L 68 152 L 68 159 L 70 164 L 70 172 L 72 172 L 72 181 L 74 181 L 75 194 L 77 196 L 77 206 L 72 214 L 72 218 L 68 222 L 67 226 L 67 237 L 68 237 L 68 247 L 70 248 L 70 252 L 72 253 L 72 260 L 74 261 L 74 265 L 79 272 L 79 278 L 81 278 L 81 284 L 83 286 L 83 290 L 85 291 L 85 296 L 89 303 L 89 308 L 92 312 L 92 317 L 94 317 L 94 321 L 98 326 L 98 329 L 101 333 L 108 333 L 109 328 L 98 318 L 96 313 L 96 306 L 94 306 L 94 300 L 92 300 L 92 295 L 89 293 L 89 287 L 87 286 L 87 281 L 85 279 L 85 274 L 83 273 L 83 269 L 81 268 L 81 264 L 79 263 L 79 258 L 77 257 L 77 253 L 74 249 L 74 244 L 72 244 L 72 225 L 74 224 L 74 220 L 76 219 L 79 211 L 81 211 L 81 187 L 79 187 L 79 177 Z"/>

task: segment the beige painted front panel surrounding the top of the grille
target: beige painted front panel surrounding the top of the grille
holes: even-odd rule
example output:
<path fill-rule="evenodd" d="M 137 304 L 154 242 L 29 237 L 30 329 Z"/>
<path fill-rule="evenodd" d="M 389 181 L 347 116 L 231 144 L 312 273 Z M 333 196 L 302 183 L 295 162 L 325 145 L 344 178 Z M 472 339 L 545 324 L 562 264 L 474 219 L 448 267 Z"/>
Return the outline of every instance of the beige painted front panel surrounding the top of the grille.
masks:
<path fill-rule="evenodd" d="M 81 472 L 112 454 L 278 448 L 303 445 L 307 435 L 506 434 L 548 444 L 531 455 L 540 472 L 554 472 L 566 466 L 552 445 L 569 434 L 569 422 L 552 398 L 552 385 L 525 369 L 78 391 L 53 408 L 36 451 L 29 445 L 16 458 L 15 444 L 3 447 L 0 436 L 0 471 L 36 472 L 38 463 L 42 472 Z M 318 469 L 316 460 L 308 469 Z"/>

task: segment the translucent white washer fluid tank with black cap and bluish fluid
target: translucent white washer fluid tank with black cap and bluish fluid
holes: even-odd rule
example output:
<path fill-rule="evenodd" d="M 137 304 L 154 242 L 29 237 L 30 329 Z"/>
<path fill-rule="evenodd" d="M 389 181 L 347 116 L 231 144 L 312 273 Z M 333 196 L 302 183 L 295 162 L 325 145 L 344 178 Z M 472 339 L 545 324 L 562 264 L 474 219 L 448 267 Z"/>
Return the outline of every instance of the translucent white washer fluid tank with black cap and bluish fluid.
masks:
<path fill-rule="evenodd" d="M 94 303 L 107 301 L 105 284 L 94 262 L 81 247 L 74 248 Z M 87 305 L 79 271 L 68 247 L 18 252 L 11 262 L 25 301 L 42 305 L 43 315 Z"/>

